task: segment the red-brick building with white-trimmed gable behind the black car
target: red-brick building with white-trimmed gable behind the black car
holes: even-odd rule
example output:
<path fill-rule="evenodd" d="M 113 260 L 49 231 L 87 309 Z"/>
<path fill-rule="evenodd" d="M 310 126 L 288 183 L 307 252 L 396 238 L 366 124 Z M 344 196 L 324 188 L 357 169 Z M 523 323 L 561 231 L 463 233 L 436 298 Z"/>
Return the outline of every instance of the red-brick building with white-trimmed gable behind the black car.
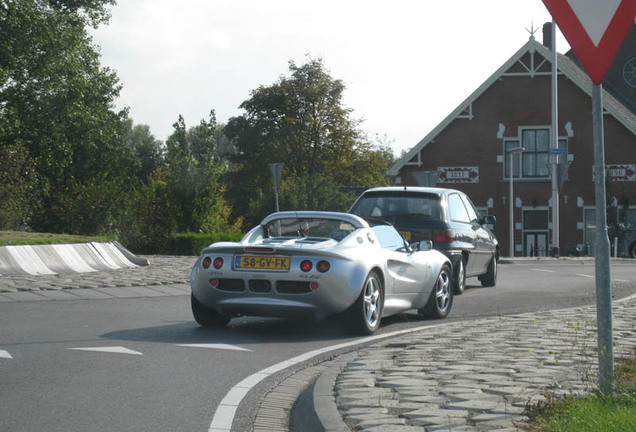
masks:
<path fill-rule="evenodd" d="M 514 255 L 552 250 L 550 162 L 562 167 L 560 251 L 586 244 L 593 254 L 592 82 L 570 52 L 558 55 L 558 147 L 550 150 L 552 52 L 533 36 L 390 170 L 398 185 L 450 187 L 497 217 L 494 232 L 509 256 L 512 157 Z M 546 31 L 547 30 L 547 31 Z M 548 37 L 545 37 L 545 35 Z M 636 226 L 636 25 L 603 83 L 608 223 Z M 523 147 L 521 154 L 508 151 Z M 566 173 L 567 170 L 567 173 Z"/>

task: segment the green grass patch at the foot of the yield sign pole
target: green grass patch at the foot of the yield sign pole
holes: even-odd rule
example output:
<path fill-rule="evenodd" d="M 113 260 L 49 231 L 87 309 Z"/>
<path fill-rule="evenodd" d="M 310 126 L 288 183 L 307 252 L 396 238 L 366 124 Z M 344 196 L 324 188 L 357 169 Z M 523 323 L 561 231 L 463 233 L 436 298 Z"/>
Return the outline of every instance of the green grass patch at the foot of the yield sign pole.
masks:
<path fill-rule="evenodd" d="M 636 431 L 636 349 L 620 358 L 614 370 L 614 396 L 548 400 L 530 409 L 533 432 Z"/>

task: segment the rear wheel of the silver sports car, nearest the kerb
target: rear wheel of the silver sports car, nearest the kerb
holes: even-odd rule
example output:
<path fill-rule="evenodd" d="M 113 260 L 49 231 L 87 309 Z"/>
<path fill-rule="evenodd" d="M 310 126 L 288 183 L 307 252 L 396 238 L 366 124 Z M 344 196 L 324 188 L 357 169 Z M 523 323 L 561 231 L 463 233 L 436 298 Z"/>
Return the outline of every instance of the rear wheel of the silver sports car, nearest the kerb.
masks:
<path fill-rule="evenodd" d="M 359 334 L 373 334 L 380 327 L 383 308 L 384 286 L 382 279 L 377 272 L 372 271 L 364 281 L 360 297 L 351 308 L 351 329 Z"/>

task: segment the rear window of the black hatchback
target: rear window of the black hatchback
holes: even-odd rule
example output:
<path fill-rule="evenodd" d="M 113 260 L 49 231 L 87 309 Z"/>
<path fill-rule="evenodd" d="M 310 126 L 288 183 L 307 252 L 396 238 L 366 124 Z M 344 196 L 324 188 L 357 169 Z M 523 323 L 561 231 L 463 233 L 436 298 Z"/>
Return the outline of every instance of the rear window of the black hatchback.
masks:
<path fill-rule="evenodd" d="M 441 219 L 439 200 L 440 197 L 436 194 L 408 191 L 367 193 L 354 204 L 349 213 L 394 221 L 409 217 Z"/>

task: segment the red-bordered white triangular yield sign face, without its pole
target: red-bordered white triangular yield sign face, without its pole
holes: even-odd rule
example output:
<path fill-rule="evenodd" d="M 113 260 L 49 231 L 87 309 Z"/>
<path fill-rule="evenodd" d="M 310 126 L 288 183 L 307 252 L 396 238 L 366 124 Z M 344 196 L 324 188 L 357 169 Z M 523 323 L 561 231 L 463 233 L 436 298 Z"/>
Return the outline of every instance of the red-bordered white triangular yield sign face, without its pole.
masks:
<path fill-rule="evenodd" d="M 636 0 L 543 0 L 583 67 L 599 85 L 636 18 Z"/>

